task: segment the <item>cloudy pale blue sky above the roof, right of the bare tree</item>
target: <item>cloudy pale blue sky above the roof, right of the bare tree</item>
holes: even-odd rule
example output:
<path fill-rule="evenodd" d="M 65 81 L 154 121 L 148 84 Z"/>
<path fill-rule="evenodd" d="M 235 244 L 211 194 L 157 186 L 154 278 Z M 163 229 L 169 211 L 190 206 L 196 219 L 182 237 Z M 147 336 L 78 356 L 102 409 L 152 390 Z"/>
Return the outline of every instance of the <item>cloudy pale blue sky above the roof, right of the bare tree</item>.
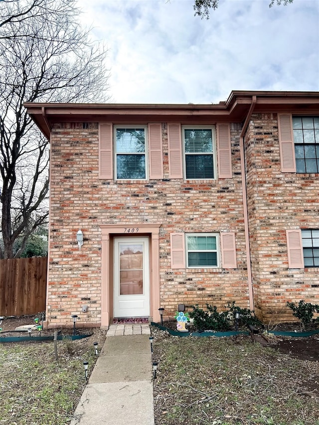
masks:
<path fill-rule="evenodd" d="M 225 101 L 232 90 L 319 91 L 319 0 L 78 0 L 108 48 L 113 103 Z"/>

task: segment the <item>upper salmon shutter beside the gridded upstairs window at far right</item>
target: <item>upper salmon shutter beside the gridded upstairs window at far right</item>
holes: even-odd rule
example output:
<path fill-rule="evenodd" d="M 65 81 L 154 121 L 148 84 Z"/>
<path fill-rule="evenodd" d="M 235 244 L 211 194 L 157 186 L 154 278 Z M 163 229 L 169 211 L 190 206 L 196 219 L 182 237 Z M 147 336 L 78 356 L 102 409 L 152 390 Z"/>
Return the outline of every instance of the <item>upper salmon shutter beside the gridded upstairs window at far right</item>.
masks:
<path fill-rule="evenodd" d="M 296 172 L 293 117 L 291 114 L 278 114 L 278 137 L 281 171 Z"/>

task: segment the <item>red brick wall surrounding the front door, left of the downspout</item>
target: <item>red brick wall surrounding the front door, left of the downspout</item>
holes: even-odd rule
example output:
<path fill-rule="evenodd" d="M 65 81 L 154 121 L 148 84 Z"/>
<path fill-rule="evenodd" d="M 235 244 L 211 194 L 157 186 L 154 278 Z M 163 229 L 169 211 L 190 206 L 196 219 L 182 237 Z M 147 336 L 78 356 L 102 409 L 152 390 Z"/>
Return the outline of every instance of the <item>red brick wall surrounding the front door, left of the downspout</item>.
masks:
<path fill-rule="evenodd" d="M 83 128 L 87 127 L 87 128 Z M 164 179 L 115 183 L 98 178 L 98 124 L 57 124 L 51 138 L 51 210 L 47 319 L 101 322 L 101 231 L 111 223 L 162 223 L 160 304 L 248 307 L 247 266 L 239 155 L 240 126 L 232 125 L 233 178 L 184 182 L 168 178 L 167 125 L 162 125 Z M 79 252 L 76 232 L 84 244 Z M 170 232 L 236 234 L 237 269 L 171 270 Z M 87 313 L 81 306 L 89 305 Z"/>

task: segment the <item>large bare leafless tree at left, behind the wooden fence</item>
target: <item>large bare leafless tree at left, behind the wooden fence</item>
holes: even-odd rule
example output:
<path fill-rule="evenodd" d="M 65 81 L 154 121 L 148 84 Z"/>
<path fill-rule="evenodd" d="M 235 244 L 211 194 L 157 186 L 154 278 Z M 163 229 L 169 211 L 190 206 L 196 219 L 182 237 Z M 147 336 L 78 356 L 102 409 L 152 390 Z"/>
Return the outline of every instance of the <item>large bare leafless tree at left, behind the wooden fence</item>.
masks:
<path fill-rule="evenodd" d="M 48 216 L 49 142 L 24 102 L 107 101 L 106 51 L 89 41 L 75 0 L 0 2 L 0 202 L 3 252 L 15 257 Z"/>

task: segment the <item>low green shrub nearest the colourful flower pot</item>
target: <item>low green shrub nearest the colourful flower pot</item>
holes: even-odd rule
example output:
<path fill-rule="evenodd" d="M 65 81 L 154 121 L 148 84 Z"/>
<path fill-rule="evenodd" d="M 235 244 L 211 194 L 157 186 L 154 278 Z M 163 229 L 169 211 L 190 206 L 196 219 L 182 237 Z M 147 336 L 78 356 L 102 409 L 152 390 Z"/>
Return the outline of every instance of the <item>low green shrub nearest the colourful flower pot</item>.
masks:
<path fill-rule="evenodd" d="M 194 319 L 194 326 L 199 331 L 203 330 L 228 330 L 228 311 L 217 311 L 216 305 L 206 304 L 207 310 L 193 307 L 193 311 L 189 313 L 189 317 Z"/>

